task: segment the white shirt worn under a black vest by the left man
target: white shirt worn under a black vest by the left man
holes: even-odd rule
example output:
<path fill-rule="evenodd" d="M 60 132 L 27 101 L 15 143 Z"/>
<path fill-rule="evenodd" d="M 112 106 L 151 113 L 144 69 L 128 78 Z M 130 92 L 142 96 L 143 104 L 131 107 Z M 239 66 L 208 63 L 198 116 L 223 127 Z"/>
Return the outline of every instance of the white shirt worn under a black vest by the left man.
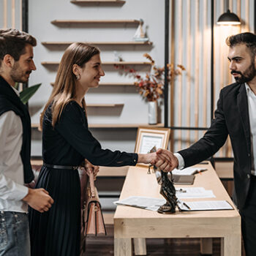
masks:
<path fill-rule="evenodd" d="M 28 211 L 22 200 L 29 192 L 23 185 L 22 135 L 20 116 L 13 111 L 3 113 L 0 116 L 0 211 Z"/>

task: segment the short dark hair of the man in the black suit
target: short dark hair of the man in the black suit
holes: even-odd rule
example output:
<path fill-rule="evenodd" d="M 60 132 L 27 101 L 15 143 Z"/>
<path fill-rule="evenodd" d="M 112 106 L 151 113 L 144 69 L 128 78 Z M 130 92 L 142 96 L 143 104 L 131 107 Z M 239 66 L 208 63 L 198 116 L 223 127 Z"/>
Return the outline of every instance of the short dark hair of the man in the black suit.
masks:
<path fill-rule="evenodd" d="M 231 48 L 234 45 L 244 44 L 251 50 L 252 56 L 256 55 L 256 34 L 252 34 L 249 32 L 235 34 L 233 36 L 227 37 L 226 44 Z"/>

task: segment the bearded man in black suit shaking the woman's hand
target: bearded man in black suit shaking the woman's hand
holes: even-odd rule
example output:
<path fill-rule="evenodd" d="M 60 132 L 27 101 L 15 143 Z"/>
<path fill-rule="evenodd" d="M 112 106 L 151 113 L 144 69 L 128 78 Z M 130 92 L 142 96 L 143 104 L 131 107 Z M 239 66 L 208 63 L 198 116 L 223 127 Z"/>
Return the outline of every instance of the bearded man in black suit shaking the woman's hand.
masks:
<path fill-rule="evenodd" d="M 227 59 L 236 83 L 220 91 L 215 118 L 206 134 L 187 149 L 173 154 L 159 149 L 170 159 L 169 170 L 182 169 L 213 156 L 230 135 L 234 154 L 233 200 L 241 214 L 246 256 L 256 255 L 256 35 L 228 37 Z M 167 169 L 167 163 L 159 162 Z"/>

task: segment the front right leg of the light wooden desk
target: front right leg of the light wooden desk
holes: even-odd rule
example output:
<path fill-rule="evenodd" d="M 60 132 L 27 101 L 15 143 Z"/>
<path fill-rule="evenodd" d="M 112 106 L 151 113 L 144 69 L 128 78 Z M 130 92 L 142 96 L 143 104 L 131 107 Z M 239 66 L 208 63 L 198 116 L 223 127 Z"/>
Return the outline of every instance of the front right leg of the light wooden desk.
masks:
<path fill-rule="evenodd" d="M 241 256 L 241 236 L 225 236 L 220 243 L 221 256 Z"/>

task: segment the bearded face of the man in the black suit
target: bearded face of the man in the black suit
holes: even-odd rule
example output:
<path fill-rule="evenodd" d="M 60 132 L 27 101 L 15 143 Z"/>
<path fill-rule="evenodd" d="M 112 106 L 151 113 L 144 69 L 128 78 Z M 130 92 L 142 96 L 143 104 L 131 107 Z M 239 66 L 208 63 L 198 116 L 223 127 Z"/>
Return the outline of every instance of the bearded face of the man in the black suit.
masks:
<path fill-rule="evenodd" d="M 236 82 L 248 83 L 256 77 L 255 58 L 252 58 L 252 52 L 245 44 L 230 48 L 227 59 Z"/>

